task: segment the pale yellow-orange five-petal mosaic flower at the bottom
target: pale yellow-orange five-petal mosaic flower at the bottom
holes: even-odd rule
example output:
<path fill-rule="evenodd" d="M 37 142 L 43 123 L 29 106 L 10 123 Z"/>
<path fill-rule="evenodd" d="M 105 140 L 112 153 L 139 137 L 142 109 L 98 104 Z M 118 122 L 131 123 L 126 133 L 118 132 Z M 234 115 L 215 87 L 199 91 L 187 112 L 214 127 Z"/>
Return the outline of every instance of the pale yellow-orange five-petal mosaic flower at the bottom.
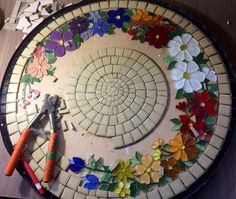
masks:
<path fill-rule="evenodd" d="M 151 155 L 145 155 L 141 158 L 141 164 L 135 166 L 136 174 L 139 176 L 139 183 L 150 184 L 157 183 L 160 179 L 160 161 L 153 160 Z"/>

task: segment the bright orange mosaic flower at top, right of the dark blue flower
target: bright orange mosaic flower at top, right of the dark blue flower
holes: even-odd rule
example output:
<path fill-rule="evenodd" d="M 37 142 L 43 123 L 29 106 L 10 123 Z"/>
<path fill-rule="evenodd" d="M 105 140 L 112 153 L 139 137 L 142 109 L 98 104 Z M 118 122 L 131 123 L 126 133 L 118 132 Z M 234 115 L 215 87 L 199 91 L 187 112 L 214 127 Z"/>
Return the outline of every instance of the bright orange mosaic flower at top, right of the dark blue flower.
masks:
<path fill-rule="evenodd" d="M 137 10 L 136 15 L 131 16 L 131 25 L 142 28 L 144 25 L 149 26 L 152 19 L 148 11 Z"/>

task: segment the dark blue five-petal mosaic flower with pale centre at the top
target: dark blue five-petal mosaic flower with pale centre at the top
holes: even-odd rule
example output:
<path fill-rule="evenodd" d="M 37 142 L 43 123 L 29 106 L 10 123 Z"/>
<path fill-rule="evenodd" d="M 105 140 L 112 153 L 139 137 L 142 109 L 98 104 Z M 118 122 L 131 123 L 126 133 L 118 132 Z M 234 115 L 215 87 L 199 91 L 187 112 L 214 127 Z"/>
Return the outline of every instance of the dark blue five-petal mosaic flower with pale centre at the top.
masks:
<path fill-rule="evenodd" d="M 117 28 L 121 28 L 124 22 L 128 22 L 130 16 L 125 14 L 124 8 L 118 8 L 117 10 L 108 11 L 108 23 L 115 24 Z"/>

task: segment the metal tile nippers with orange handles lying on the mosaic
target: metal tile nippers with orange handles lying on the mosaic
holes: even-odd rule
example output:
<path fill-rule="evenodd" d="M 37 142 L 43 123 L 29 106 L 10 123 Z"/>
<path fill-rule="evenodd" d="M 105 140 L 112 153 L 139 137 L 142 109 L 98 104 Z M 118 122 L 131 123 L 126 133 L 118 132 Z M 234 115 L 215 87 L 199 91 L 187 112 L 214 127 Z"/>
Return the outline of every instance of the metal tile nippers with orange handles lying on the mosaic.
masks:
<path fill-rule="evenodd" d="M 53 178 L 53 169 L 54 169 L 54 161 L 55 161 L 55 151 L 56 151 L 56 119 L 55 119 L 55 109 L 57 104 L 58 96 L 50 96 L 49 94 L 45 95 L 44 104 L 40 110 L 40 112 L 34 117 L 34 119 L 29 123 L 29 125 L 23 130 L 21 137 L 16 144 L 14 151 L 8 161 L 8 164 L 5 168 L 4 174 L 6 176 L 12 175 L 17 162 L 19 161 L 24 146 L 26 144 L 27 138 L 30 134 L 30 130 L 33 126 L 36 126 L 41 118 L 44 115 L 49 116 L 50 126 L 51 126 L 51 136 L 49 140 L 49 147 L 47 153 L 47 161 L 45 164 L 44 171 L 44 182 L 48 182 Z"/>

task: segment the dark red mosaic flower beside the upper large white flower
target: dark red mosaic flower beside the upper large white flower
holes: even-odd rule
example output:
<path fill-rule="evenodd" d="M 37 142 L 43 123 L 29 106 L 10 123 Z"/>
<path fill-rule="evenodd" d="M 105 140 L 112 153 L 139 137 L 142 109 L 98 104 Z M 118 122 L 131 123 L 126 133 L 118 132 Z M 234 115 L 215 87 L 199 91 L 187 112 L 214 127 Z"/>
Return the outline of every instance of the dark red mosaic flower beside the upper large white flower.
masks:
<path fill-rule="evenodd" d="M 147 32 L 145 40 L 150 45 L 161 48 L 169 42 L 168 31 L 164 26 L 155 26 Z"/>

